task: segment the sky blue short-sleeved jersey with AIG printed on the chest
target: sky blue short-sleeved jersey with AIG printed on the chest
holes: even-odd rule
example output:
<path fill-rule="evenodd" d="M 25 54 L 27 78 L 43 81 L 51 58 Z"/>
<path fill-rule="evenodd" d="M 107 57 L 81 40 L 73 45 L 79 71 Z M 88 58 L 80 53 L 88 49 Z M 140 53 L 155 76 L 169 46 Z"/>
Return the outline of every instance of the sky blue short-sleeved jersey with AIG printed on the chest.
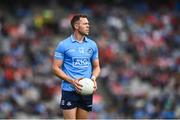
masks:
<path fill-rule="evenodd" d="M 71 35 L 59 42 L 54 58 L 63 61 L 61 69 L 71 78 L 90 78 L 92 61 L 98 59 L 98 48 L 96 43 L 87 37 L 79 43 L 74 35 Z M 65 91 L 75 90 L 74 86 L 65 80 L 62 80 L 61 88 Z"/>

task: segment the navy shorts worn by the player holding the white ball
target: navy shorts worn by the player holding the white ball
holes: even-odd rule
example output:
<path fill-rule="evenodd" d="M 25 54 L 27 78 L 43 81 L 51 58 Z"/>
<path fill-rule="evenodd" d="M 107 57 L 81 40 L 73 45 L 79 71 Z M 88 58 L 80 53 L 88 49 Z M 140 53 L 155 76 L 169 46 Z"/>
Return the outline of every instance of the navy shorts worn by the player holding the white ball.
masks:
<path fill-rule="evenodd" d="M 78 107 L 86 111 L 92 111 L 92 96 L 80 95 L 75 91 L 62 91 L 60 107 L 65 110 Z"/>

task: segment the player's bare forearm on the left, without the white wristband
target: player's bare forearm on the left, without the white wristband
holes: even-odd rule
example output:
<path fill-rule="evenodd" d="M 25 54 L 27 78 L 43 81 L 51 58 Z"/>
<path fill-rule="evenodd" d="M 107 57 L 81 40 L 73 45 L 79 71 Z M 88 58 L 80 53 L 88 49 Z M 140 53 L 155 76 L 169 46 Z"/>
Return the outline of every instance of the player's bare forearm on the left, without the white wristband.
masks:
<path fill-rule="evenodd" d="M 59 67 L 53 68 L 53 74 L 55 74 L 60 79 L 66 80 L 67 82 L 73 83 L 73 79 L 67 76 Z"/>

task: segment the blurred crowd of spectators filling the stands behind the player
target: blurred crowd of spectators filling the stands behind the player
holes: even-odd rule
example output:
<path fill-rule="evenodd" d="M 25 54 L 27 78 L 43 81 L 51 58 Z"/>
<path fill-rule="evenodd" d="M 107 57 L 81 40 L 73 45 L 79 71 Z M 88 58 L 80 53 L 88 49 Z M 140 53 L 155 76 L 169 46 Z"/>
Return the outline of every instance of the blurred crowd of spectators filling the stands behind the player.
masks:
<path fill-rule="evenodd" d="M 180 118 L 178 0 L 1 0 L 0 118 L 63 118 L 51 63 L 75 13 L 99 47 L 89 118 Z"/>

